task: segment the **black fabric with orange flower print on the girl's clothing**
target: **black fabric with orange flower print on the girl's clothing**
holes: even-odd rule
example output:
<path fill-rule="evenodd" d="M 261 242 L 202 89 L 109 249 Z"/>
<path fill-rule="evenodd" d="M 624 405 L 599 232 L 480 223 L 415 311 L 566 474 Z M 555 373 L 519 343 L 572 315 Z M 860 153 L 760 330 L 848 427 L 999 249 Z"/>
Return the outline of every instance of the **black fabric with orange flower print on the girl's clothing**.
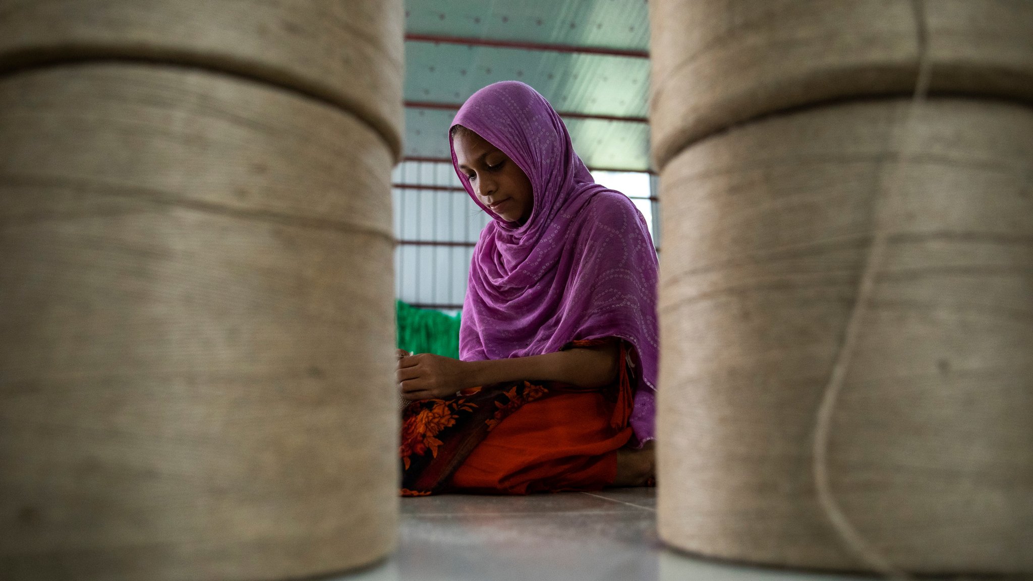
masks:
<path fill-rule="evenodd" d="M 569 347 L 595 347 L 604 341 L 575 341 Z M 624 377 L 623 360 L 626 351 L 622 344 L 619 384 L 630 391 Z M 555 382 L 531 383 L 527 381 L 497 384 L 487 388 L 474 387 L 446 399 L 412 401 L 402 410 L 402 444 L 399 457 L 402 462 L 403 496 L 426 496 L 447 489 L 451 475 L 462 465 L 470 452 L 500 422 L 520 410 L 525 404 L 556 393 L 580 391 Z M 627 423 L 630 413 L 630 393 L 617 397 L 623 411 L 615 411 Z"/>

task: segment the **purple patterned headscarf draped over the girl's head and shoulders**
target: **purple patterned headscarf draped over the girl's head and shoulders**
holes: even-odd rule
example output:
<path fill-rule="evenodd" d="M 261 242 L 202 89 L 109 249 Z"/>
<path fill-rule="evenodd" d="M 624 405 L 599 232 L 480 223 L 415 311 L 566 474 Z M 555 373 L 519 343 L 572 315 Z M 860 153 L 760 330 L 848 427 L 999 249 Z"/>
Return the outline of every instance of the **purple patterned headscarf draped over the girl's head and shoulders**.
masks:
<path fill-rule="evenodd" d="M 537 91 L 513 80 L 477 91 L 456 114 L 463 125 L 516 163 L 534 206 L 524 225 L 494 220 L 470 264 L 460 327 L 463 360 L 560 351 L 574 340 L 617 336 L 634 347 L 631 427 L 654 439 L 657 375 L 656 251 L 638 208 L 592 180 L 567 128 Z"/>

